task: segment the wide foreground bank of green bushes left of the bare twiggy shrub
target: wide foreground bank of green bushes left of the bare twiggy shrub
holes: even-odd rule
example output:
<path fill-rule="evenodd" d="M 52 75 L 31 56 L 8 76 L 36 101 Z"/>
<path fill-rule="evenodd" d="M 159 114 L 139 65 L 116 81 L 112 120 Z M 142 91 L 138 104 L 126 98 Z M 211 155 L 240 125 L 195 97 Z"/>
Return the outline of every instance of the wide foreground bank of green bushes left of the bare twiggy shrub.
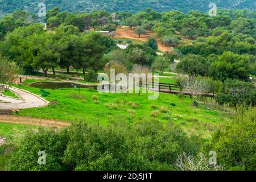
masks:
<path fill-rule="evenodd" d="M 28 133 L 9 169 L 173 170 L 177 156 L 182 151 L 195 155 L 199 144 L 173 123 L 110 121 L 98 127 L 77 121 L 61 131 Z M 46 151 L 46 165 L 37 164 L 39 151 Z"/>

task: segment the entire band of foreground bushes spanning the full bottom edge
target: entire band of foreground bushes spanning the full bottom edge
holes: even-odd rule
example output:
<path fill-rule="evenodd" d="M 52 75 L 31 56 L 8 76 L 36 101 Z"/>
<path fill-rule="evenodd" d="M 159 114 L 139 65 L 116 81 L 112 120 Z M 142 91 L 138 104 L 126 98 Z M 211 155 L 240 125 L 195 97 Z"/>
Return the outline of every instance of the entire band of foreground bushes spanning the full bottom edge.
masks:
<path fill-rule="evenodd" d="M 102 127 L 76 121 L 60 131 L 28 132 L 5 164 L 10 170 L 255 170 L 255 134 L 255 107 L 240 107 L 207 143 L 173 122 L 112 119 Z M 217 164 L 211 166 L 201 159 L 212 150 Z M 38 164 L 39 151 L 46 152 L 46 165 Z"/>

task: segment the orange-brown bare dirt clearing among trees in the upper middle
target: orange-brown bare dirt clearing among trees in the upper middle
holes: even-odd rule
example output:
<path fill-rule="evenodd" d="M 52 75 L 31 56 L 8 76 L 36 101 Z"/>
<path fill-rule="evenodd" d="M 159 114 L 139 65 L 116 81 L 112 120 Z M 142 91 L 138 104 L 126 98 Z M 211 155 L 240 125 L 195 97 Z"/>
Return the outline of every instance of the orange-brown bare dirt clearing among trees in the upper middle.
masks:
<path fill-rule="evenodd" d="M 151 31 L 147 31 L 146 35 L 141 35 L 141 38 L 139 38 L 139 35 L 134 33 L 134 30 L 130 30 L 130 27 L 122 26 L 121 28 L 117 28 L 115 31 L 115 38 L 127 38 L 127 39 L 134 39 L 134 40 L 139 40 L 142 42 L 147 42 L 148 38 L 154 37 L 154 33 Z M 158 42 L 158 49 L 160 51 L 173 51 L 174 49 L 172 47 L 168 47 L 163 45 L 160 42 L 160 39 L 156 39 Z"/>

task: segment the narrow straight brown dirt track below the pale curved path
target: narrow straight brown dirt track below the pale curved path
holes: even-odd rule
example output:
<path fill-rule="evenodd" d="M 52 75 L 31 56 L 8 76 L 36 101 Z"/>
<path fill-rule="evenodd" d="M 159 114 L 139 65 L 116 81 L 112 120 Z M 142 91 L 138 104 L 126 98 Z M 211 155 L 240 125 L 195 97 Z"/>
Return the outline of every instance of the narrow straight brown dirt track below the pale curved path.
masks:
<path fill-rule="evenodd" d="M 46 127 L 57 127 L 63 128 L 69 126 L 70 123 L 64 121 L 55 121 L 50 119 L 30 118 L 21 117 L 15 115 L 0 115 L 0 123 L 14 123 L 34 126 L 46 126 Z"/>

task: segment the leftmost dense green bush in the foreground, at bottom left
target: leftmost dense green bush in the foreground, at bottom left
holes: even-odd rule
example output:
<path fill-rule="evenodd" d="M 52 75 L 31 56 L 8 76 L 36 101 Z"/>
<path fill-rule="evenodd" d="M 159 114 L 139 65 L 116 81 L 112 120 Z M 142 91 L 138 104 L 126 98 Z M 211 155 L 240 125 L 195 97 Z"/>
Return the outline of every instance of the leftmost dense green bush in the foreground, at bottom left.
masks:
<path fill-rule="evenodd" d="M 11 157 L 9 170 L 63 170 L 61 162 L 68 144 L 67 131 L 39 128 L 38 133 L 28 132 L 22 144 Z M 38 152 L 46 152 L 46 165 L 38 164 Z"/>

